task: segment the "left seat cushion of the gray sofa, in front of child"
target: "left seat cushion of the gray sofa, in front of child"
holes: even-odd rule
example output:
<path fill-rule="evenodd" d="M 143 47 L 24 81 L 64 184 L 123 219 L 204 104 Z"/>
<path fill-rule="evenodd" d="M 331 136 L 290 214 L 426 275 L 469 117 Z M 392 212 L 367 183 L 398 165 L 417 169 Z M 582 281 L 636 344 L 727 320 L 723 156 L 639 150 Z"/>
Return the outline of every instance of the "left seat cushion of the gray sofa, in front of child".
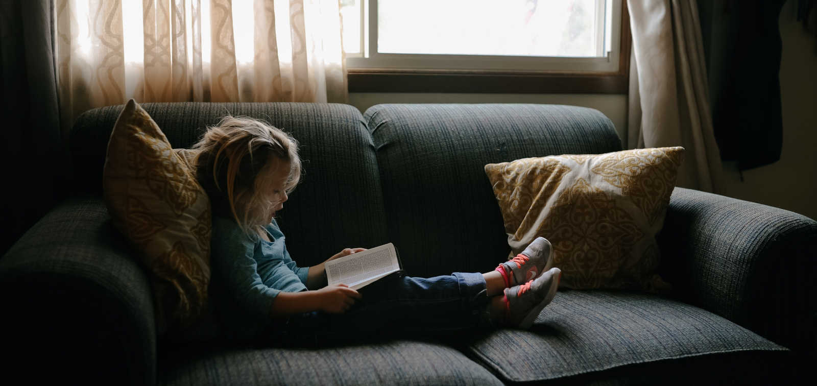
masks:
<path fill-rule="evenodd" d="M 160 379 L 167 385 L 502 384 L 462 352 L 406 340 L 327 348 L 186 348 L 168 355 Z"/>

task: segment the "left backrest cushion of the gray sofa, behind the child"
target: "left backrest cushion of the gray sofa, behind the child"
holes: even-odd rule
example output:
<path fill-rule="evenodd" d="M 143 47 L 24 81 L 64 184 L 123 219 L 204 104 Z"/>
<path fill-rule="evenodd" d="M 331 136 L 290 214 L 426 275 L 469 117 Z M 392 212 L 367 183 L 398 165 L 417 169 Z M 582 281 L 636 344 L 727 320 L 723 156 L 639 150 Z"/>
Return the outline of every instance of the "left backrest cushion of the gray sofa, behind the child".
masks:
<path fill-rule="evenodd" d="M 343 248 L 388 242 L 380 175 L 359 110 L 317 103 L 145 103 L 174 148 L 190 148 L 225 114 L 264 119 L 300 142 L 304 175 L 278 222 L 302 267 Z M 123 106 L 82 114 L 70 133 L 75 190 L 101 195 L 105 150 Z"/>

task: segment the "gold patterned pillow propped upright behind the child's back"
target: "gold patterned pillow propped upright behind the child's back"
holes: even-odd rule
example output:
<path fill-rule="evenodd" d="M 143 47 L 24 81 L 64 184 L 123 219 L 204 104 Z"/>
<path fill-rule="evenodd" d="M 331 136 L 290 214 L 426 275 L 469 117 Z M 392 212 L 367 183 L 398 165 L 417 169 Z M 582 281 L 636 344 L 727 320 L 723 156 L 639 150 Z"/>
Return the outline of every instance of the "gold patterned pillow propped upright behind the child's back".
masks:
<path fill-rule="evenodd" d="M 207 306 L 210 200 L 150 115 L 130 100 L 114 124 L 103 173 L 114 226 L 147 267 L 160 332 L 191 325 Z"/>

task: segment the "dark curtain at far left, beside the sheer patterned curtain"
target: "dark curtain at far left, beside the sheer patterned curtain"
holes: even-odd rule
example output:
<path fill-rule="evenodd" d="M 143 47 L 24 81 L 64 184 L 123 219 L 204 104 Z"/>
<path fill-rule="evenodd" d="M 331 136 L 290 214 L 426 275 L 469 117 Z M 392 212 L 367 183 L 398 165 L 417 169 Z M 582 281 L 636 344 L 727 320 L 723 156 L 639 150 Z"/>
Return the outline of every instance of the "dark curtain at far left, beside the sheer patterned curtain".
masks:
<path fill-rule="evenodd" d="M 0 255 L 60 198 L 68 156 L 56 92 L 53 0 L 0 0 Z"/>

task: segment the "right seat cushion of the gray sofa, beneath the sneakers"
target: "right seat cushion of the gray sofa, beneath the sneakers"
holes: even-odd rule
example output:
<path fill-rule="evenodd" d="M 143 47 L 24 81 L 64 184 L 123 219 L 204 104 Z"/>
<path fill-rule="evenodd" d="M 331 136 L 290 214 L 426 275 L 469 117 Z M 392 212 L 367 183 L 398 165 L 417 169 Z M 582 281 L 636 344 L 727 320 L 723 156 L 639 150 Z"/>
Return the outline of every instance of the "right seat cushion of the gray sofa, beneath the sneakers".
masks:
<path fill-rule="evenodd" d="M 730 382 L 743 375 L 752 381 L 770 375 L 769 367 L 791 353 L 701 308 L 652 294 L 603 290 L 560 291 L 530 330 L 496 330 L 469 349 L 503 380 L 514 382 L 571 376 L 592 382 L 622 374 L 643 381 L 650 374 L 667 379 L 675 371 L 682 378 L 725 377 L 730 371 Z"/>

